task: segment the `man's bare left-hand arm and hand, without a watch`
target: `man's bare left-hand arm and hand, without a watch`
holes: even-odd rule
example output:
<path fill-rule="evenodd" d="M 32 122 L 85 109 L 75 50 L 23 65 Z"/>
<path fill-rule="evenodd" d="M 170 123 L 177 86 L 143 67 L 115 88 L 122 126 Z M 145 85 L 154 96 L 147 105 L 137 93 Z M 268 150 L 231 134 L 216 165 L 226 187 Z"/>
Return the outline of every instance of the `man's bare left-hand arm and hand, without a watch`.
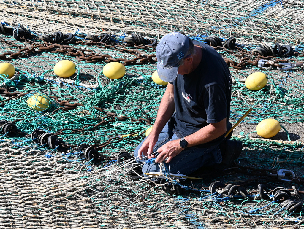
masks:
<path fill-rule="evenodd" d="M 148 158 L 154 157 L 152 150 L 154 145 L 158 140 L 158 135 L 161 133 L 161 130 L 164 128 L 168 120 L 171 118 L 175 111 L 174 105 L 174 86 L 173 84 L 168 84 L 166 91 L 161 99 L 161 104 L 159 105 L 157 116 L 152 128 L 152 131 L 143 142 L 142 146 L 138 150 L 138 156 L 141 158 L 143 156 L 148 156 Z M 151 155 L 151 156 L 149 156 Z"/>

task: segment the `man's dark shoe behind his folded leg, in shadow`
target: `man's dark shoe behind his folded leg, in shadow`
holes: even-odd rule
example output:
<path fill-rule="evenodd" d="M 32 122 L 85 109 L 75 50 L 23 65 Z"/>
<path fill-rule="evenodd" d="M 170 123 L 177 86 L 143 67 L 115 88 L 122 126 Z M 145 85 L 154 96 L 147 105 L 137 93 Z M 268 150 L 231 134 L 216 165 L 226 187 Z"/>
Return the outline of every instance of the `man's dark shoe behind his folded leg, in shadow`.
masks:
<path fill-rule="evenodd" d="M 219 144 L 223 161 L 219 164 L 221 169 L 231 168 L 235 159 L 237 159 L 242 152 L 242 142 L 237 140 L 225 139 Z"/>

